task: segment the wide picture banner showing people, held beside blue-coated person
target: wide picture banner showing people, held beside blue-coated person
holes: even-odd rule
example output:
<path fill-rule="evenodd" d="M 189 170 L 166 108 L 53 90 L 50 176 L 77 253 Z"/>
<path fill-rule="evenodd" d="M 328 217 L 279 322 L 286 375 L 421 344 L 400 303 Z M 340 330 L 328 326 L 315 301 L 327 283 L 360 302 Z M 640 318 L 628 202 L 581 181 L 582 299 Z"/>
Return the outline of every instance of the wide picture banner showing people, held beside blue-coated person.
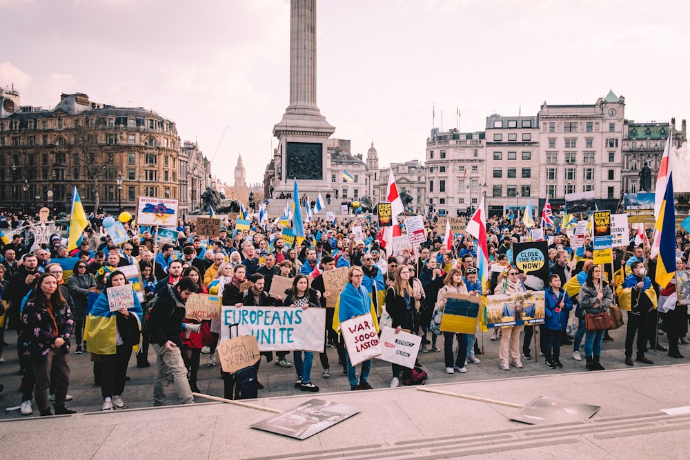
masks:
<path fill-rule="evenodd" d="M 486 327 L 544 323 L 544 291 L 486 296 Z"/>

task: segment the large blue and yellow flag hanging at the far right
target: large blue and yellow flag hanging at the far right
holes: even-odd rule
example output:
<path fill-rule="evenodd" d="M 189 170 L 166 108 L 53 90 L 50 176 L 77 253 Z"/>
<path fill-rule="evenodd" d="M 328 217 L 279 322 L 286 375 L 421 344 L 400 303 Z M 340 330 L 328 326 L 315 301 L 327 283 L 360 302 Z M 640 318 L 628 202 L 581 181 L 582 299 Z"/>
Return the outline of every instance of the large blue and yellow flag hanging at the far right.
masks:
<path fill-rule="evenodd" d="M 656 221 L 659 243 L 659 257 L 656 263 L 655 280 L 665 288 L 676 274 L 676 206 L 673 204 L 673 172 L 669 174 L 666 194 L 661 203 L 659 219 Z"/>

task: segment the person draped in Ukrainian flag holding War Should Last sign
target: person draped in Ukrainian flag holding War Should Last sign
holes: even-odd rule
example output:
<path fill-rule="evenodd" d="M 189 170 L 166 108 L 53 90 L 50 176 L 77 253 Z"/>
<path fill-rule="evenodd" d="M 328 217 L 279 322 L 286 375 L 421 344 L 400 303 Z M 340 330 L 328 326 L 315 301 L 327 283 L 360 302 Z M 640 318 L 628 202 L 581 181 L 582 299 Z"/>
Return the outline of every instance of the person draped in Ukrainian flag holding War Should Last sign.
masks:
<path fill-rule="evenodd" d="M 340 332 L 340 323 L 348 319 L 361 316 L 362 314 L 371 314 L 371 321 L 373 321 L 376 332 L 379 332 L 379 322 L 376 319 L 376 311 L 374 303 L 369 297 L 366 288 L 362 286 L 362 278 L 364 272 L 362 267 L 353 266 L 348 272 L 348 283 L 340 292 L 337 303 L 335 303 L 335 313 L 333 314 L 333 330 Z M 350 381 L 351 390 L 371 390 L 368 379 L 369 371 L 371 370 L 371 359 L 362 362 L 362 375 L 359 377 L 357 383 L 357 370 L 350 362 L 349 353 L 345 353 L 347 363 L 347 378 Z"/>

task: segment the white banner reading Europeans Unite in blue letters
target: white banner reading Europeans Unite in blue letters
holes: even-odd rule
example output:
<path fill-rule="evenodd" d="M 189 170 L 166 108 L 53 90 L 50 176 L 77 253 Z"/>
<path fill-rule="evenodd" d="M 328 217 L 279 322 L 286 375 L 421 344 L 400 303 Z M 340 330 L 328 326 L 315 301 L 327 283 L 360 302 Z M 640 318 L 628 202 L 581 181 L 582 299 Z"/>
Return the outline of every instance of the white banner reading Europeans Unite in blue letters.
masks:
<path fill-rule="evenodd" d="M 234 307 L 221 310 L 220 340 L 230 338 L 230 326 L 239 335 L 252 335 L 259 351 L 324 350 L 325 308 Z"/>

